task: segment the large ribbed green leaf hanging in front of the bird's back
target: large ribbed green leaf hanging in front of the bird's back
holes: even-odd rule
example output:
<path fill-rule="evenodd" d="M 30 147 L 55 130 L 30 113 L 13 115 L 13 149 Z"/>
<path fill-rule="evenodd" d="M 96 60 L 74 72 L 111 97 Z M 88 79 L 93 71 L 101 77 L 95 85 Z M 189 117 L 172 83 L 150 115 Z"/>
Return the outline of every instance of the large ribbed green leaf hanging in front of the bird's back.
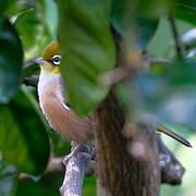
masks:
<path fill-rule="evenodd" d="M 59 39 L 68 98 L 78 115 L 86 115 L 108 94 L 101 74 L 115 64 L 115 47 L 106 8 L 99 0 L 59 1 Z"/>

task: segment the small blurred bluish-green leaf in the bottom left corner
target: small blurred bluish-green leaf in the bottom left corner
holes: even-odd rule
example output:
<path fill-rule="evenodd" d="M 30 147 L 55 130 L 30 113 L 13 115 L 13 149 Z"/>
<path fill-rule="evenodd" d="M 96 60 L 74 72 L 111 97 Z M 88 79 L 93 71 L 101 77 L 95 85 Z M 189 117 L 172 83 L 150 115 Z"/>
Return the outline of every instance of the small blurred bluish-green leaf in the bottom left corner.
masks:
<path fill-rule="evenodd" d="M 11 196 L 15 193 L 17 171 L 13 166 L 0 160 L 0 195 Z"/>

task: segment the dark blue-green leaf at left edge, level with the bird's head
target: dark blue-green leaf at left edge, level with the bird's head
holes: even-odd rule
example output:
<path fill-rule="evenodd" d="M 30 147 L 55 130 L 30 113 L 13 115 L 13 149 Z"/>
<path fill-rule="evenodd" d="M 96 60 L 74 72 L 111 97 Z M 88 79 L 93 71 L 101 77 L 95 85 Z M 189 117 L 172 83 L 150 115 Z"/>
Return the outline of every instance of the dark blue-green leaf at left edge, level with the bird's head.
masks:
<path fill-rule="evenodd" d="M 0 102 L 8 102 L 17 91 L 21 78 L 22 44 L 9 20 L 0 28 Z"/>

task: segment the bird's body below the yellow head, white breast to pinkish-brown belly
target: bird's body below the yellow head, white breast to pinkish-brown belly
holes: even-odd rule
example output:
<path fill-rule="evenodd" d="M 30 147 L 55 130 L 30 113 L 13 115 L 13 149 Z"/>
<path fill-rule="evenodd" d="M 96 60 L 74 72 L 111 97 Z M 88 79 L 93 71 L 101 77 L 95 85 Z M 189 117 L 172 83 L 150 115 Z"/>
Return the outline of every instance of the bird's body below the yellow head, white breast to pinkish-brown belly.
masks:
<path fill-rule="evenodd" d="M 65 105 L 59 75 L 50 78 L 40 76 L 38 95 L 42 113 L 53 130 L 79 144 L 93 140 L 94 134 L 90 119 L 78 118 Z"/>

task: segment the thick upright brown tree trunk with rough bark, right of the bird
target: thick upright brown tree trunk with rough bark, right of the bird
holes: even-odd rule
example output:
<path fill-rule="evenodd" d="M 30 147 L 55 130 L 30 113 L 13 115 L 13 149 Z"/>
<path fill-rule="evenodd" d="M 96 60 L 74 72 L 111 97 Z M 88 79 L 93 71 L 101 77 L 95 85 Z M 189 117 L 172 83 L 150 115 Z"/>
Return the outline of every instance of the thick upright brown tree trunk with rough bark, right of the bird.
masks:
<path fill-rule="evenodd" d="M 160 169 L 157 134 L 145 123 L 130 125 L 110 93 L 95 113 L 98 196 L 157 196 Z M 124 136 L 126 135 L 126 137 Z"/>

